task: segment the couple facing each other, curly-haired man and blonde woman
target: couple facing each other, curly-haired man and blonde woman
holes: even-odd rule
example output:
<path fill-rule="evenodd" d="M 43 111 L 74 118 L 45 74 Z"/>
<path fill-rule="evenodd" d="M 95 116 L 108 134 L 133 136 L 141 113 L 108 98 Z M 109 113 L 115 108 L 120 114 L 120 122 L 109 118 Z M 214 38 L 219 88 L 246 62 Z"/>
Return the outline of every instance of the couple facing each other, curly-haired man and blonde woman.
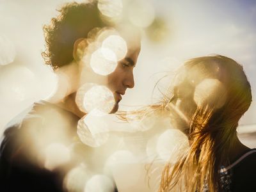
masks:
<path fill-rule="evenodd" d="M 107 33 L 102 32 L 106 27 Z M 121 95 L 134 86 L 140 35 L 104 23 L 97 4 L 66 4 L 44 30 L 47 50 L 43 56 L 61 77 L 60 85 L 50 102 L 35 103 L 21 123 L 4 132 L 1 191 L 68 191 L 63 187 L 68 170 L 93 161 L 90 147 L 81 143 L 76 130 L 81 118 L 92 112 L 90 104 L 83 104 L 83 90 L 88 90 L 84 83 L 100 84 L 113 93 L 111 107 L 104 111 L 108 113 L 117 111 Z M 99 72 L 84 63 L 109 34 L 124 39 L 127 51 L 113 70 Z M 188 152 L 175 164 L 166 163 L 159 191 L 253 191 L 256 150 L 244 146 L 236 134 L 238 121 L 251 102 L 243 67 L 230 58 L 205 56 L 180 67 L 161 104 L 147 109 L 168 116 L 173 127 L 189 139 Z M 47 163 L 54 156 L 52 143 L 72 148 L 70 156 L 61 157 L 60 166 Z"/>

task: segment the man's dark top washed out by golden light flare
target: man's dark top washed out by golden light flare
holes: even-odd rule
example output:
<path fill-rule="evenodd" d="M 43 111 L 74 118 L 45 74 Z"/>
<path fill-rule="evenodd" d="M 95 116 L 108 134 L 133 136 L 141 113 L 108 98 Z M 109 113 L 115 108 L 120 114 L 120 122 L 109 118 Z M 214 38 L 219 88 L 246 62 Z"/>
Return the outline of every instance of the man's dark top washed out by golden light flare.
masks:
<path fill-rule="evenodd" d="M 0 147 L 0 191 L 66 191 L 63 179 L 67 172 L 93 161 L 86 158 L 92 148 L 81 143 L 77 136 L 78 121 L 74 113 L 49 102 L 33 104 L 25 118 L 4 131 Z M 63 143 L 72 152 L 70 161 L 47 169 L 40 153 L 51 143 Z"/>

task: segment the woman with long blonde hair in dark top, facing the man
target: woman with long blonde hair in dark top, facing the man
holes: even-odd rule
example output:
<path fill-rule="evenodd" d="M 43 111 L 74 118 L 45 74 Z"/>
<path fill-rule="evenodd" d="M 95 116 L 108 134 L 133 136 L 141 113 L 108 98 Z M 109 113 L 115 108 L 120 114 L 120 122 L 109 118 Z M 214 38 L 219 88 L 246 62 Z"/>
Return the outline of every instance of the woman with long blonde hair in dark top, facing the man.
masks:
<path fill-rule="evenodd" d="M 157 109 L 188 135 L 189 149 L 166 164 L 159 191 L 256 191 L 256 150 L 236 132 L 251 102 L 250 83 L 236 61 L 221 55 L 187 61 Z"/>

